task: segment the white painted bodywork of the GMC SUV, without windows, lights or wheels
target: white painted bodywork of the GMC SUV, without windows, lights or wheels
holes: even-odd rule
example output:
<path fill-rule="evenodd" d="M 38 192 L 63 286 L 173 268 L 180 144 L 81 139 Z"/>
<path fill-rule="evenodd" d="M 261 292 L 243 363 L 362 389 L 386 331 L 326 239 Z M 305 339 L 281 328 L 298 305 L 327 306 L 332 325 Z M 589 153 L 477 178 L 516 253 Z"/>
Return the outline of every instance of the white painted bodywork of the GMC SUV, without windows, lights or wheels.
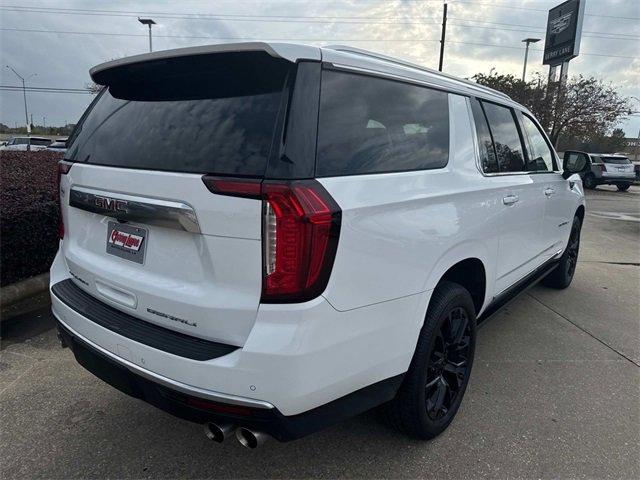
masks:
<path fill-rule="evenodd" d="M 353 57 L 332 55 L 342 63 Z M 371 59 L 351 61 L 386 68 Z M 432 74 L 387 70 L 447 87 Z M 580 182 L 569 188 L 559 172 L 483 175 L 469 100 L 462 93 L 449 94 L 445 168 L 319 179 L 340 205 L 342 223 L 328 286 L 306 303 L 260 304 L 260 201 L 213 195 L 199 175 L 74 165 L 62 180 L 67 236 L 51 268 L 51 284 L 73 272 L 86 283 L 76 280 L 79 287 L 114 308 L 240 348 L 195 361 L 106 330 L 53 296 L 55 316 L 81 338 L 141 369 L 199 392 L 268 402 L 285 415 L 405 372 L 431 293 L 450 267 L 469 258 L 483 263 L 482 310 L 565 248 L 570 221 L 584 204 Z M 495 101 L 515 106 L 502 97 Z M 69 207 L 74 185 L 190 205 L 202 233 L 140 225 L 149 230 L 144 268 L 106 255 L 109 219 Z M 545 194 L 549 188 L 554 195 Z M 505 205 L 509 195 L 518 202 Z M 132 294 L 135 307 L 124 306 L 117 295 L 109 298 L 110 288 Z M 197 319 L 198 328 L 152 315 L 147 307 Z"/>

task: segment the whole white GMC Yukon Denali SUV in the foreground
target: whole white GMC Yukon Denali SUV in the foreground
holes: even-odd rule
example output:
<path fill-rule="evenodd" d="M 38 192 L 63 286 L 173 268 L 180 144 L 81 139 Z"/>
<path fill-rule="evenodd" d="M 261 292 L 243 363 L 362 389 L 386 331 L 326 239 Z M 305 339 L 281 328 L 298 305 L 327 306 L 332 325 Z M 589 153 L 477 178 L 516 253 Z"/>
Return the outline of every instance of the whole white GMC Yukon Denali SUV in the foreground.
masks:
<path fill-rule="evenodd" d="M 215 440 L 385 403 L 432 438 L 477 322 L 547 274 L 571 282 L 584 165 L 562 172 L 501 93 L 340 46 L 170 50 L 91 76 L 106 88 L 60 163 L 61 339 Z"/>

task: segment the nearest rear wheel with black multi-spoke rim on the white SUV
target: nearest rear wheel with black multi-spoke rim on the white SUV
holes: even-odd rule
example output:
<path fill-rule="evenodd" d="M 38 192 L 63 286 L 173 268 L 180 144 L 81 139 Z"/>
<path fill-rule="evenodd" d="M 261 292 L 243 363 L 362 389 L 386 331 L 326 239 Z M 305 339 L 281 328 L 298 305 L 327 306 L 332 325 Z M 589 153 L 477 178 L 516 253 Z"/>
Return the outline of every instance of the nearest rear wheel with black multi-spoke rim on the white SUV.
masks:
<path fill-rule="evenodd" d="M 469 382 L 475 341 L 471 295 L 457 283 L 441 282 L 431 297 L 409 370 L 387 405 L 395 428 L 429 440 L 449 426 Z"/>

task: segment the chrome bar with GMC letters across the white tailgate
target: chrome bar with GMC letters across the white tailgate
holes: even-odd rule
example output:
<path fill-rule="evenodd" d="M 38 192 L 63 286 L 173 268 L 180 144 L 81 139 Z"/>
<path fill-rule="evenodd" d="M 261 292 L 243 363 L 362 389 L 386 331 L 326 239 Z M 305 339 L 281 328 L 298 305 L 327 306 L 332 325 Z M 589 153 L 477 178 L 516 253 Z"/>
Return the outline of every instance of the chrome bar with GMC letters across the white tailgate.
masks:
<path fill-rule="evenodd" d="M 201 233 L 196 212 L 186 203 L 72 187 L 69 205 L 120 221 L 142 222 Z"/>

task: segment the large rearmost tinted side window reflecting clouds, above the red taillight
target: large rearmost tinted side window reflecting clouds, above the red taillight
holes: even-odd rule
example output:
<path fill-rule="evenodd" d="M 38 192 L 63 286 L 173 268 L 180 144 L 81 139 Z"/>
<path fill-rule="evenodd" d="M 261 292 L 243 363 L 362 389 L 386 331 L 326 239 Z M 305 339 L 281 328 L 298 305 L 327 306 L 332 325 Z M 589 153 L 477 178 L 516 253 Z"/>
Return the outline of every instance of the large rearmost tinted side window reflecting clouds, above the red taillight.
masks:
<path fill-rule="evenodd" d="M 448 159 L 447 93 L 323 71 L 316 175 L 442 168 Z"/>

